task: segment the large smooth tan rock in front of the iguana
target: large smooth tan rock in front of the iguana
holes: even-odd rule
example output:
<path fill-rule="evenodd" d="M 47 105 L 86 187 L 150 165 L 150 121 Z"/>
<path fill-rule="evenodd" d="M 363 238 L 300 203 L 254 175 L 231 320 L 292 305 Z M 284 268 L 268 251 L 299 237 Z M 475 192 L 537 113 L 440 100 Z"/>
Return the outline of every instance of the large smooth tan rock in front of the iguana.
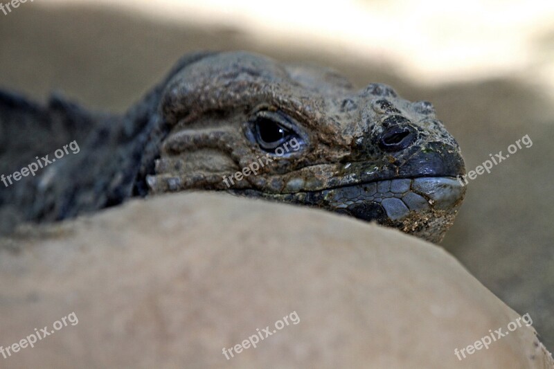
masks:
<path fill-rule="evenodd" d="M 77 324 L 0 366 L 553 367 L 525 324 L 458 360 L 456 348 L 507 332 L 519 314 L 440 247 L 226 195 L 132 201 L 2 240 L 0 345 L 72 312 Z M 272 333 L 285 316 L 289 325 Z M 226 359 L 223 348 L 267 326 L 257 348 Z"/>

